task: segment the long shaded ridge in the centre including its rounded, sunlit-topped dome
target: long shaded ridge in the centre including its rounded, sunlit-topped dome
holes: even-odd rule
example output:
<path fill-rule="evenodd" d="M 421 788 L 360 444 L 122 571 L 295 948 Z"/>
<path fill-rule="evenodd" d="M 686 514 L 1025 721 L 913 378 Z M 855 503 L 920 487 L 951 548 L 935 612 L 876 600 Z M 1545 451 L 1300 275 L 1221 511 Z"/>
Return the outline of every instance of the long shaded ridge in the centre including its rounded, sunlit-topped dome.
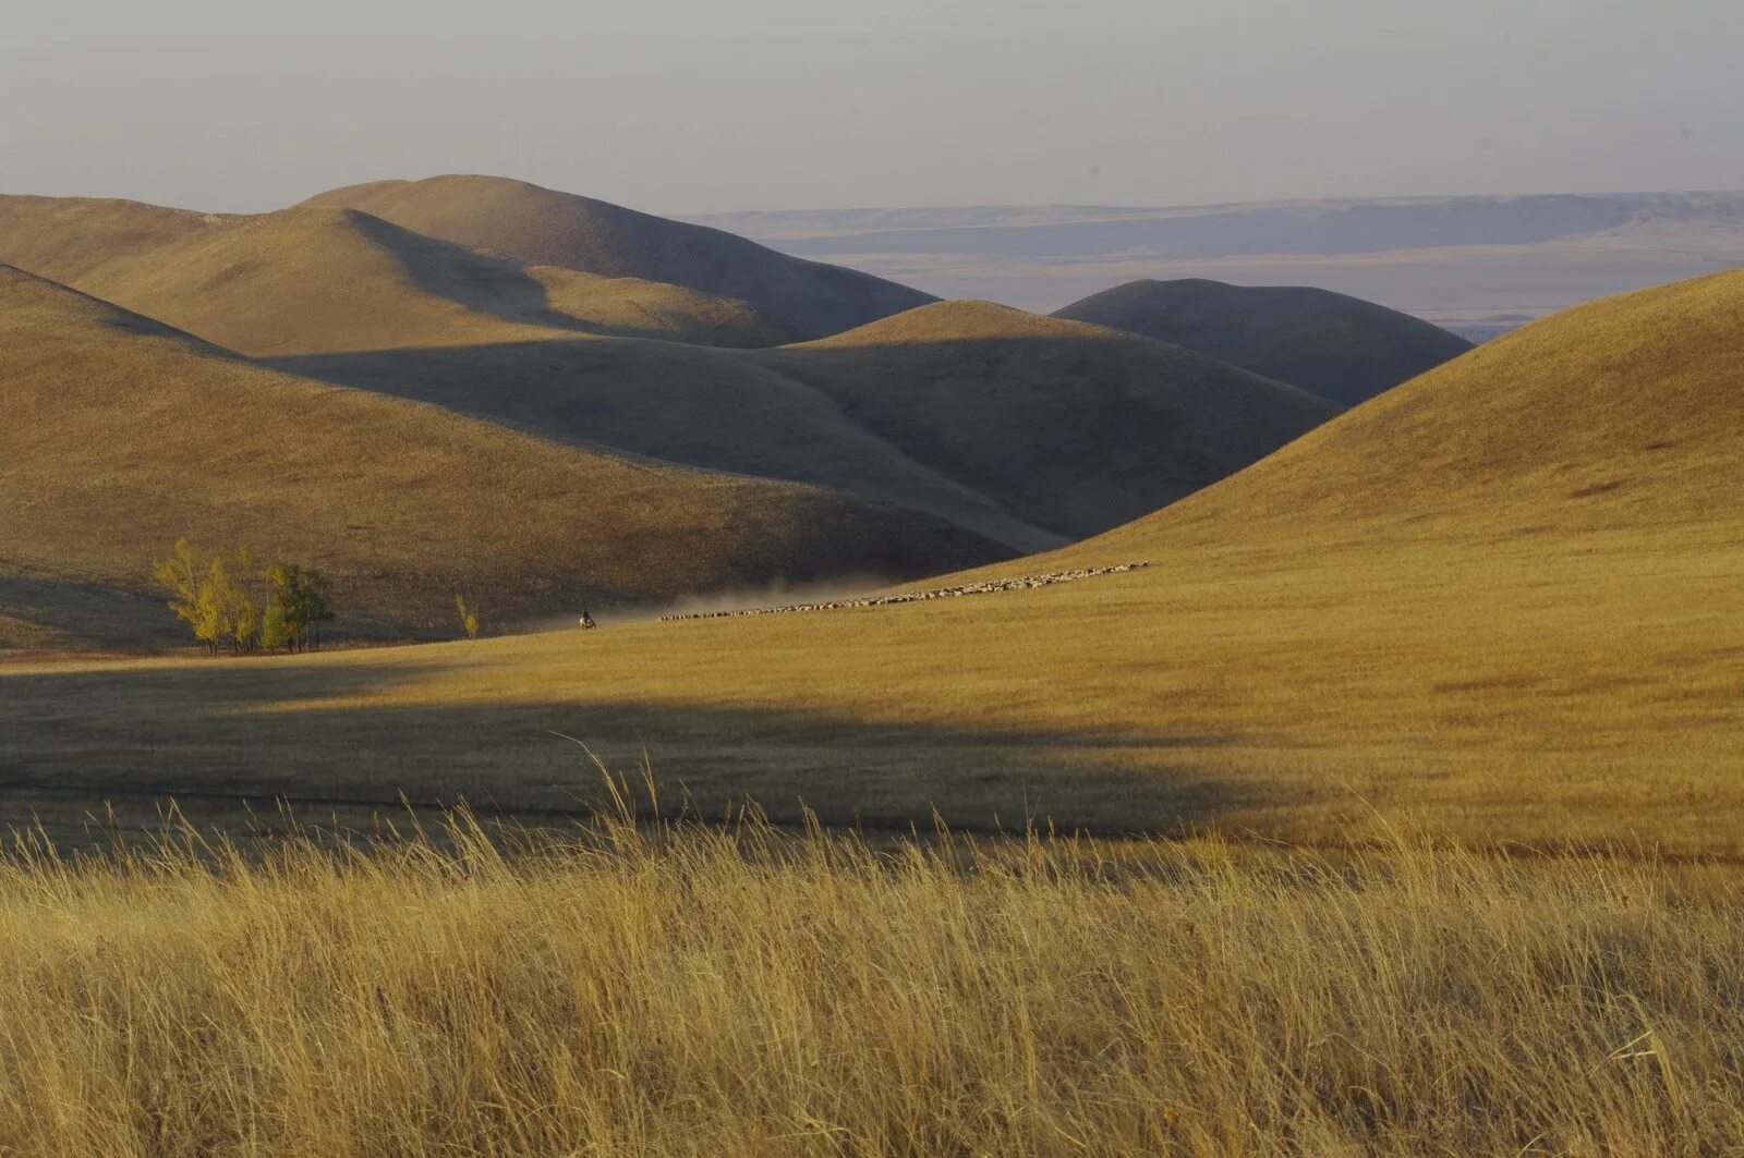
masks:
<path fill-rule="evenodd" d="M 276 364 L 900 502 L 1018 551 L 1153 511 L 1339 410 L 1160 342 L 975 302 L 771 351 L 520 342 Z"/>

